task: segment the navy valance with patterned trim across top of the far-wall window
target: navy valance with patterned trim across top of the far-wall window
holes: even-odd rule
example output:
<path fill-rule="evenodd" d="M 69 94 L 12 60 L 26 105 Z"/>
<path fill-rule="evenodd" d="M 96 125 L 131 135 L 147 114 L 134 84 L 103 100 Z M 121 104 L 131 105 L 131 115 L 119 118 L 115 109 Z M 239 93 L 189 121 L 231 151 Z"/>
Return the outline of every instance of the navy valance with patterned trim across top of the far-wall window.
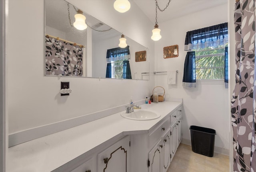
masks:
<path fill-rule="evenodd" d="M 188 31 L 185 39 L 185 51 L 199 48 L 216 47 L 228 43 L 228 23 L 222 23 L 202 29 Z"/>

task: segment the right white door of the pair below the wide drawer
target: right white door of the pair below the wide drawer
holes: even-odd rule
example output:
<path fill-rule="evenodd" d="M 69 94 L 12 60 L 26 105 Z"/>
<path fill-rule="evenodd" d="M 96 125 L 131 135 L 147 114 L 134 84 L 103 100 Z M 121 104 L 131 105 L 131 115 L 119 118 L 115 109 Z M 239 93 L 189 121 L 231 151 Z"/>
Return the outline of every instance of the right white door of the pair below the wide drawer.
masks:
<path fill-rule="evenodd" d="M 171 150 L 170 150 L 170 143 L 171 143 L 171 135 L 170 135 L 170 128 L 166 132 L 165 135 L 162 137 L 162 172 L 166 172 L 168 167 L 170 166 L 171 162 Z"/>

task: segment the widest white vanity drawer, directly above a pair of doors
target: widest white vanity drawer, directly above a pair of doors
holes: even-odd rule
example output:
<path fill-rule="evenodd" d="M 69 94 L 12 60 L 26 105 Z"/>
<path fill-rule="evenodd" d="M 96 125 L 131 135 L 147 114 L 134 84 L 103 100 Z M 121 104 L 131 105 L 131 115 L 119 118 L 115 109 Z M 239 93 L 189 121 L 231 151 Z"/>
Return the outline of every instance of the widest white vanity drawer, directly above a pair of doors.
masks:
<path fill-rule="evenodd" d="M 148 145 L 152 148 L 162 135 L 170 128 L 170 117 L 168 117 L 161 125 L 159 125 L 152 133 L 148 135 Z"/>

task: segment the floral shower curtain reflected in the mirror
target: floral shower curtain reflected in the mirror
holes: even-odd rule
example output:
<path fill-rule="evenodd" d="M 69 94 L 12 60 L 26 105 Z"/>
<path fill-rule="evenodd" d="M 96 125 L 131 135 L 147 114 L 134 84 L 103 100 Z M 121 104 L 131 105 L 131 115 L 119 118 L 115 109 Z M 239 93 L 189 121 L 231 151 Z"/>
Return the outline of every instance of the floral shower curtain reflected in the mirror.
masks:
<path fill-rule="evenodd" d="M 46 75 L 82 76 L 83 48 L 51 37 L 45 38 Z"/>

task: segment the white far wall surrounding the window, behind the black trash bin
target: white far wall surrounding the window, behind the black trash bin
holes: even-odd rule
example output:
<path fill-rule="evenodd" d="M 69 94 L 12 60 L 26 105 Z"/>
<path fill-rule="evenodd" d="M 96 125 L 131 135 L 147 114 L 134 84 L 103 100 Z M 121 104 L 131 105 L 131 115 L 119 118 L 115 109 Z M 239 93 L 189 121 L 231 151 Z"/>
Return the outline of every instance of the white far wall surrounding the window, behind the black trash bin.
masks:
<path fill-rule="evenodd" d="M 229 112 L 228 89 L 223 82 L 197 82 L 196 88 L 183 88 L 182 78 L 186 51 L 184 42 L 186 32 L 228 22 L 227 4 L 212 9 L 196 12 L 159 23 L 162 39 L 155 44 L 155 70 L 178 70 L 177 84 L 168 85 L 166 74 L 156 74 L 155 86 L 164 86 L 166 96 L 183 98 L 183 139 L 190 140 L 190 125 L 198 125 L 216 130 L 215 146 L 229 149 Z M 170 45 L 179 46 L 179 56 L 164 59 L 163 47 Z"/>

